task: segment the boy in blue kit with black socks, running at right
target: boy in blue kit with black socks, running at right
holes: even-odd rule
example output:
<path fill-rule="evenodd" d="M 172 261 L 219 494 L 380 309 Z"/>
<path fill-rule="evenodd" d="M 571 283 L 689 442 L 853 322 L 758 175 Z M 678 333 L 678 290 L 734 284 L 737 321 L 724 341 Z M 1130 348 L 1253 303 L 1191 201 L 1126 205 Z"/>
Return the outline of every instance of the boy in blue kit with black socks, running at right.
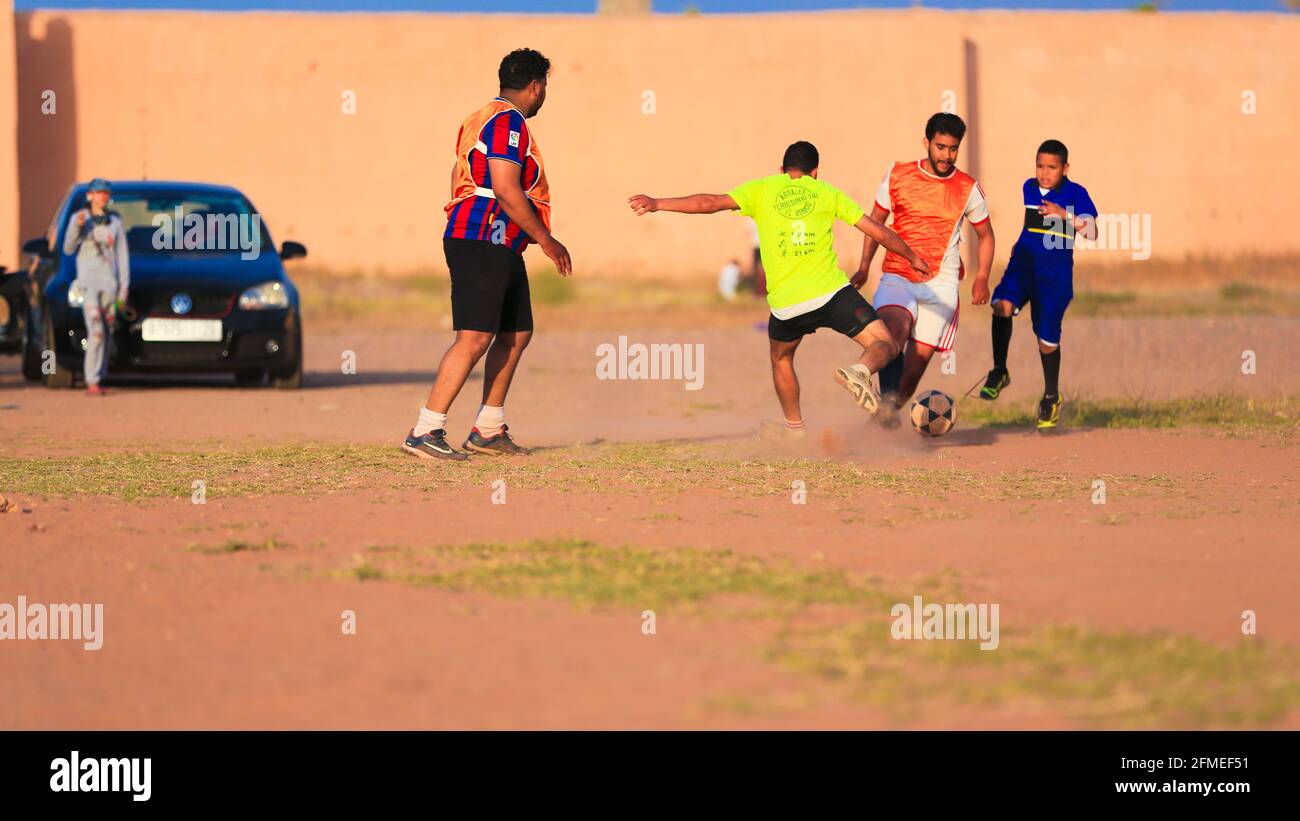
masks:
<path fill-rule="evenodd" d="M 1039 145 L 1036 166 L 1036 175 L 1024 181 L 1024 229 L 993 290 L 993 370 L 979 395 L 997 399 L 1011 383 L 1006 370 L 1011 317 L 1030 303 L 1043 359 L 1039 430 L 1045 431 L 1061 420 L 1061 320 L 1074 299 L 1074 238 L 1096 239 L 1097 207 L 1087 188 L 1067 177 L 1070 151 L 1061 140 Z"/>

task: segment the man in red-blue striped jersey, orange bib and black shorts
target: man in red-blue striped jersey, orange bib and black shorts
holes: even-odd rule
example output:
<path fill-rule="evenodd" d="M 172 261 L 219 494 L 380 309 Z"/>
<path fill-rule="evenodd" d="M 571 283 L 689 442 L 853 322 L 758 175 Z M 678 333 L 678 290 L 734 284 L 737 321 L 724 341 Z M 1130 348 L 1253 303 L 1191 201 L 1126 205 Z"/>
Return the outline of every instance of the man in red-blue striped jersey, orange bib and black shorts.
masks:
<path fill-rule="evenodd" d="M 506 394 L 533 335 L 524 248 L 541 246 L 560 275 L 572 274 L 568 249 L 551 235 L 546 170 L 526 122 L 546 101 L 550 69 L 550 60 L 530 48 L 506 55 L 497 73 L 500 95 L 460 125 L 442 239 L 456 339 L 443 353 L 429 399 L 402 444 L 415 456 L 468 459 L 447 444 L 447 409 L 484 355 L 482 404 L 464 451 L 528 452 L 515 444 L 506 426 Z"/>

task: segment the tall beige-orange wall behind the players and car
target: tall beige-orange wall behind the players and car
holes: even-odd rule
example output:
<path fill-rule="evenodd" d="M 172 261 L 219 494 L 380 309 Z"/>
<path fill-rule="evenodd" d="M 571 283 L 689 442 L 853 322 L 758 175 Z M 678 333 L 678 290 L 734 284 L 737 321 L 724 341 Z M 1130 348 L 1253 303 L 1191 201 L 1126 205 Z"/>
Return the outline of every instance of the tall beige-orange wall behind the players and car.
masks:
<path fill-rule="evenodd" d="M 1071 147 L 1074 177 L 1102 209 L 1152 214 L 1154 256 L 1300 251 L 1282 208 L 1284 145 L 1300 126 L 1294 17 L 16 19 L 23 236 L 44 229 L 74 178 L 147 173 L 239 186 L 277 238 L 307 243 L 321 265 L 442 268 L 456 126 L 495 94 L 500 56 L 530 45 L 555 66 L 533 127 L 554 227 L 580 273 L 689 275 L 742 255 L 741 218 L 637 220 L 624 200 L 725 191 L 774 170 L 794 139 L 815 142 L 823 178 L 866 203 L 889 162 L 919 156 L 923 122 L 948 92 L 958 113 L 975 108 L 962 165 L 991 197 L 1000 257 L 1046 136 Z M 55 116 L 40 114 L 44 90 L 57 91 Z M 1242 113 L 1244 90 L 1254 116 Z M 850 234 L 838 235 L 845 265 L 858 249 Z"/>

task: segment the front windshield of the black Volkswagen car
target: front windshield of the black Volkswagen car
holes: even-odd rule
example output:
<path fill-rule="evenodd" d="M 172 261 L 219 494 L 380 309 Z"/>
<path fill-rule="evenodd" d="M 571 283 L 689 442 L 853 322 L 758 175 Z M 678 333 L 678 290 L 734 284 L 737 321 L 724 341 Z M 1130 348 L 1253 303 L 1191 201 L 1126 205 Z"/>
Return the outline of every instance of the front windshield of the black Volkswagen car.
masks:
<path fill-rule="evenodd" d="M 131 253 L 250 253 L 270 249 L 261 216 L 230 194 L 114 192 Z"/>

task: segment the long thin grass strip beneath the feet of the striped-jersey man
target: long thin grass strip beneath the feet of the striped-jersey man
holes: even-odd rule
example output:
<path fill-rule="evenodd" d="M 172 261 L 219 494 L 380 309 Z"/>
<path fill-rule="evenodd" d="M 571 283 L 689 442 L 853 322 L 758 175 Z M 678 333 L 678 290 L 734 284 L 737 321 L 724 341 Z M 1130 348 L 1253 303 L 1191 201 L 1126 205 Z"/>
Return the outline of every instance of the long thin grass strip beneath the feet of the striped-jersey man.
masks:
<path fill-rule="evenodd" d="M 1067 405 L 1069 407 L 1069 405 Z M 243 451 L 90 453 L 34 459 L 0 456 L 0 487 L 34 496 L 118 499 L 188 498 L 203 479 L 208 499 L 324 495 L 360 490 L 430 491 L 488 487 L 504 479 L 516 490 L 627 494 L 668 499 L 689 491 L 729 498 L 788 495 L 805 482 L 814 498 L 853 499 L 863 491 L 942 501 L 961 495 L 988 501 L 1072 499 L 1095 477 L 1037 469 L 980 473 L 954 469 L 880 470 L 829 459 L 748 460 L 699 443 L 619 443 L 556 448 L 528 460 L 436 465 L 382 446 L 278 446 Z M 1131 491 L 1176 488 L 1162 477 L 1112 477 Z M 485 491 L 486 492 L 486 491 Z"/>

